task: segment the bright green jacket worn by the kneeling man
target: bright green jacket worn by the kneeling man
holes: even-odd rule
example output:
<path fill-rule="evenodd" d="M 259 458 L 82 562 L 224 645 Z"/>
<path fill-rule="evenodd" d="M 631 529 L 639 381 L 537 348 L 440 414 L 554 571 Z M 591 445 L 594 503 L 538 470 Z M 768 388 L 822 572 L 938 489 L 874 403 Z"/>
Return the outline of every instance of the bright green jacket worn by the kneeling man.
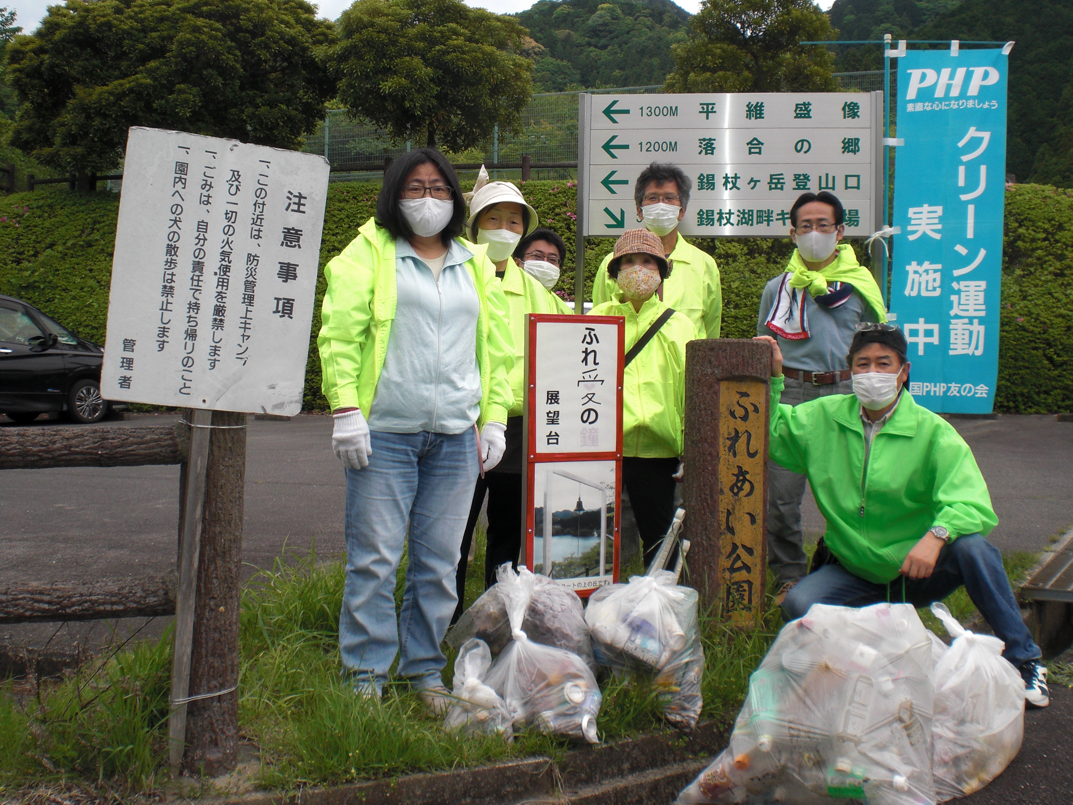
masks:
<path fill-rule="evenodd" d="M 866 467 L 854 395 L 782 406 L 782 387 L 771 378 L 770 456 L 808 475 L 827 521 L 824 543 L 851 573 L 886 584 L 931 526 L 956 539 L 986 537 L 998 524 L 969 445 L 908 392 L 872 438 Z"/>

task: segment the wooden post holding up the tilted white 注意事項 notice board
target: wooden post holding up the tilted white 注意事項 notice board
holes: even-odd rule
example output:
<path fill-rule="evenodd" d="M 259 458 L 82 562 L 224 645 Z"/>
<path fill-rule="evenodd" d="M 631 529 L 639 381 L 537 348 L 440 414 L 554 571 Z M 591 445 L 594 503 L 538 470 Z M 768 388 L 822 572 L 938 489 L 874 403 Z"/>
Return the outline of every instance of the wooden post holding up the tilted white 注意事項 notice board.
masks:
<path fill-rule="evenodd" d="M 191 696 L 182 770 L 216 777 L 238 760 L 238 614 L 246 487 L 246 414 L 215 411 L 205 481 Z"/>

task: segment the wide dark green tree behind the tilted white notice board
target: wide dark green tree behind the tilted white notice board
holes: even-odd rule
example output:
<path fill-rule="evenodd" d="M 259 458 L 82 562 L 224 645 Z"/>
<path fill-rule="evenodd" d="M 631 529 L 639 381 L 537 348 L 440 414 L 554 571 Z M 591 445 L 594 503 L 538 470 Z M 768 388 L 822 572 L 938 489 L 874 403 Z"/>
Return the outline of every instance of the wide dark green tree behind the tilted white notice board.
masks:
<path fill-rule="evenodd" d="M 335 91 L 334 27 L 305 0 L 68 0 L 8 46 L 12 144 L 62 172 L 114 167 L 131 126 L 295 148 Z"/>

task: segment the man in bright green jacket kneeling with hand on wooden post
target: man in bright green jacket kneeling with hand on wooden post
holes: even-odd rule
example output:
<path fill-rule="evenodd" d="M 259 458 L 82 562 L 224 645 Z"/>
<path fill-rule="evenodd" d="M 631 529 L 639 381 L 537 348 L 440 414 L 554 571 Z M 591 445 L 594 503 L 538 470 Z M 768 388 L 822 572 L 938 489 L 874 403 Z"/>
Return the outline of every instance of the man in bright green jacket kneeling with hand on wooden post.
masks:
<path fill-rule="evenodd" d="M 808 475 L 827 521 L 826 562 L 782 602 L 788 619 L 814 603 L 867 606 L 882 601 L 927 606 L 961 585 L 1005 642 L 1030 705 L 1049 703 L 1047 669 L 1020 617 L 987 540 L 998 524 L 972 451 L 905 385 L 906 338 L 892 324 L 857 324 L 848 363 L 853 394 L 796 407 L 779 405 L 782 353 L 771 345 L 770 457 Z M 905 390 L 905 391 L 903 391 Z"/>

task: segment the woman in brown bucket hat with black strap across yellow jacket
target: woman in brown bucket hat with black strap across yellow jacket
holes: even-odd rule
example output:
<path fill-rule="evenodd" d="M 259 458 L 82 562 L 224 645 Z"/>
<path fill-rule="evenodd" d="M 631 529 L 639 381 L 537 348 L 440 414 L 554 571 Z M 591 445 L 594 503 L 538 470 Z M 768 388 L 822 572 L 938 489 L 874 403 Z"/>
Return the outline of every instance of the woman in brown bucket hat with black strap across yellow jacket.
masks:
<path fill-rule="evenodd" d="M 641 531 L 645 565 L 674 518 L 674 475 L 682 452 L 686 343 L 700 337 L 688 317 L 663 303 L 663 280 L 673 268 L 658 235 L 648 230 L 623 233 L 607 263 L 607 276 L 618 290 L 591 313 L 626 318 L 622 485 Z"/>

